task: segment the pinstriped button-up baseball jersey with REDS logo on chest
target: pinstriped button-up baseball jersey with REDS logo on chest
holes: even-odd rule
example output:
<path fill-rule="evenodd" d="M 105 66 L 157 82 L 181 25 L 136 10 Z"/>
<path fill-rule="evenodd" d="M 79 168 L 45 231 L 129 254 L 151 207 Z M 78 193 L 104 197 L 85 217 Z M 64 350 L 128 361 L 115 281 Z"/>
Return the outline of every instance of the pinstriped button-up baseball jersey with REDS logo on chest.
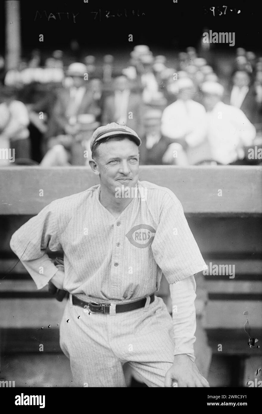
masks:
<path fill-rule="evenodd" d="M 168 188 L 138 181 L 136 196 L 116 219 L 99 201 L 100 185 L 54 200 L 12 236 L 10 247 L 38 289 L 57 272 L 46 253 L 64 251 L 64 289 L 83 300 L 134 301 L 205 263 Z"/>

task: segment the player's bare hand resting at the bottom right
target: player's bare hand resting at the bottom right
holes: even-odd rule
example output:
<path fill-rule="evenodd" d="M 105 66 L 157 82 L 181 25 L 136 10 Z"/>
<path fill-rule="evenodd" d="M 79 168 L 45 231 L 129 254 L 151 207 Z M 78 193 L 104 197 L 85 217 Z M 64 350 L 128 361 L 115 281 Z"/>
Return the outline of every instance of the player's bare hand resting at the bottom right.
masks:
<path fill-rule="evenodd" d="M 186 354 L 175 355 L 173 366 L 166 373 L 165 387 L 172 387 L 173 380 L 178 383 L 178 387 L 209 387 L 207 380 Z"/>

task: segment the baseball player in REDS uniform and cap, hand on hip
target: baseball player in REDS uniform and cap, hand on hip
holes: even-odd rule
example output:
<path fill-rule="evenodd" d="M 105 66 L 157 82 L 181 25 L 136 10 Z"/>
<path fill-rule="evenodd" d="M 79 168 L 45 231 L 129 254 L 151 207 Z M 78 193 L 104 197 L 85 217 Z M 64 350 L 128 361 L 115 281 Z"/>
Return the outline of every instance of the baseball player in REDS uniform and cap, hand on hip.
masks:
<path fill-rule="evenodd" d="M 149 387 L 209 387 L 193 348 L 194 274 L 205 263 L 173 192 L 139 181 L 140 144 L 125 125 L 97 128 L 89 165 L 100 184 L 51 202 L 10 246 L 38 289 L 51 281 L 69 292 L 60 347 L 75 385 L 126 387 L 129 363 Z M 47 248 L 64 251 L 64 271 Z M 173 322 L 154 295 L 162 273 Z"/>

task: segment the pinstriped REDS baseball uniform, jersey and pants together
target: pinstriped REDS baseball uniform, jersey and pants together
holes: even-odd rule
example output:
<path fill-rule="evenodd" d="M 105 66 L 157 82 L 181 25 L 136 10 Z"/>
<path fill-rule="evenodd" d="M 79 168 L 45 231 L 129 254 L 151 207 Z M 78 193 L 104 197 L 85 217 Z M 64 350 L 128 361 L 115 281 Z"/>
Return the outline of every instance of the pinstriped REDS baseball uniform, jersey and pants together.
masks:
<path fill-rule="evenodd" d="M 80 386 L 123 387 L 122 365 L 130 362 L 147 385 L 161 387 L 174 354 L 192 354 L 180 334 L 174 343 L 172 318 L 162 299 L 149 305 L 149 295 L 159 289 L 162 272 L 174 284 L 202 271 L 205 263 L 173 192 L 147 181 L 138 181 L 137 187 L 146 197 L 133 198 L 118 219 L 101 205 L 100 185 L 95 185 L 51 202 L 10 241 L 19 258 L 24 252 L 22 263 L 38 289 L 58 270 L 46 248 L 64 251 L 64 289 L 70 300 L 60 345 Z M 72 305 L 72 294 L 110 302 L 110 315 L 89 315 Z M 115 314 L 116 304 L 145 296 L 145 308 Z"/>

